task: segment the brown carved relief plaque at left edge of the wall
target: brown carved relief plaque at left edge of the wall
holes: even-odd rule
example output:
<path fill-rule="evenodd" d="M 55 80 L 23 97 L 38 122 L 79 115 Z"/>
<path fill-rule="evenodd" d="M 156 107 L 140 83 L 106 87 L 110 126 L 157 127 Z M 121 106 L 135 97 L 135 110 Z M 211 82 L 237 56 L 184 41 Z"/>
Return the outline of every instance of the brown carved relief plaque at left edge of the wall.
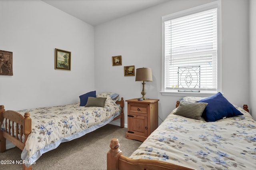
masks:
<path fill-rule="evenodd" d="M 0 50 L 0 75 L 13 75 L 11 51 Z"/>

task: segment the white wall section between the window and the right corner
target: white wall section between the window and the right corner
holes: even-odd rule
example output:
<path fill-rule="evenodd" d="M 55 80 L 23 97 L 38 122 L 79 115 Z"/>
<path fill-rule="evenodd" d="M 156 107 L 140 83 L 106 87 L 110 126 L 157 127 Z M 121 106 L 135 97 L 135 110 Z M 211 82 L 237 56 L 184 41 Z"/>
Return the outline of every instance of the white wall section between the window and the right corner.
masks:
<path fill-rule="evenodd" d="M 222 0 L 222 89 L 239 106 L 250 104 L 248 10 L 248 0 Z"/>

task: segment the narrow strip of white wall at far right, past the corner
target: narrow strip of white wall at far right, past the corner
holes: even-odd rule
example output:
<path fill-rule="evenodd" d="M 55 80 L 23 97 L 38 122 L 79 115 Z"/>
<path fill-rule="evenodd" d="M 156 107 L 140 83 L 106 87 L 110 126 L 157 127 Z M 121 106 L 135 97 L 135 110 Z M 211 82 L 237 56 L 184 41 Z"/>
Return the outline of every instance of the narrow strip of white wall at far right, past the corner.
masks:
<path fill-rule="evenodd" d="M 250 0 L 250 112 L 256 118 L 256 1 Z"/>

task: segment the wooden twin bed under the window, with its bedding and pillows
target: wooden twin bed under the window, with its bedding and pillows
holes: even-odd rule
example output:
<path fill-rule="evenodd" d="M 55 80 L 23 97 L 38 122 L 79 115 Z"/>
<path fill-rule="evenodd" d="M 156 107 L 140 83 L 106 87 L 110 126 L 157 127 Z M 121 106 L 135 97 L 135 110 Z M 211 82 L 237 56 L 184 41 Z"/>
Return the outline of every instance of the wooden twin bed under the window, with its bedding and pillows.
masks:
<path fill-rule="evenodd" d="M 247 105 L 242 109 L 225 103 L 227 100 L 223 101 L 225 98 L 221 94 L 214 97 L 210 98 L 217 99 L 217 102 L 213 103 L 208 101 L 209 98 L 201 97 L 184 97 L 177 101 L 176 109 L 130 157 L 122 155 L 118 139 L 113 138 L 107 153 L 107 169 L 256 169 L 256 121 L 248 113 Z M 206 102 L 209 103 L 205 104 Z M 191 103 L 196 105 L 196 108 L 193 108 Z M 198 105 L 206 105 L 202 107 L 203 117 L 195 116 Z M 206 116 L 205 112 L 211 111 L 207 105 L 213 109 L 223 109 L 225 106 L 228 112 L 212 111 Z M 228 115 L 230 109 L 234 111 L 234 115 Z M 210 120 L 212 115 L 218 117 L 219 114 L 222 115 L 220 119 Z"/>

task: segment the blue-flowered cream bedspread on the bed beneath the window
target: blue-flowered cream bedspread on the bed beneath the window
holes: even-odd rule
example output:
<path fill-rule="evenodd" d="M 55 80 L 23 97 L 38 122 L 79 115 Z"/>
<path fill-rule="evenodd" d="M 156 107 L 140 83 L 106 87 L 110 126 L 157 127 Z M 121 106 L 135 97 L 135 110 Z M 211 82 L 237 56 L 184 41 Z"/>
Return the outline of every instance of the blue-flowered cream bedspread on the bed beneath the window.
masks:
<path fill-rule="evenodd" d="M 162 160 L 197 170 L 255 170 L 256 121 L 236 108 L 244 115 L 216 122 L 174 115 L 174 109 L 130 158 Z"/>

